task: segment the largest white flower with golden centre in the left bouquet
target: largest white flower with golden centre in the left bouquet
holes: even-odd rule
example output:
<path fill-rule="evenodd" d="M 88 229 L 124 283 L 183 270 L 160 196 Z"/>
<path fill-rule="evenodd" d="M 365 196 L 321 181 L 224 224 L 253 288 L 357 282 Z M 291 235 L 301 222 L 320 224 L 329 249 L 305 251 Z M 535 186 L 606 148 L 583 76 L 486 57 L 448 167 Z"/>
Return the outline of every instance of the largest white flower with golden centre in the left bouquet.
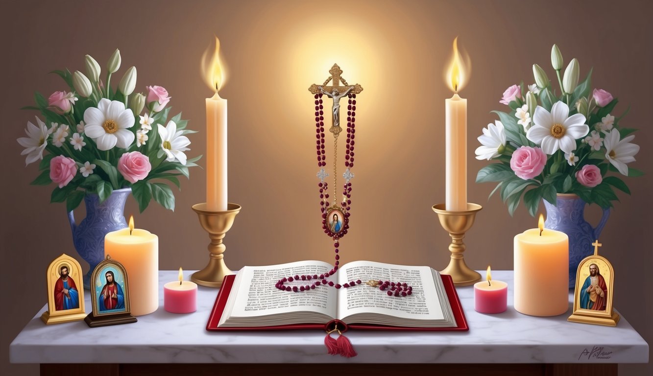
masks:
<path fill-rule="evenodd" d="M 127 129 L 134 126 L 134 113 L 123 102 L 100 99 L 97 108 L 86 109 L 84 121 L 84 133 L 95 140 L 100 150 L 129 148 L 134 142 L 134 133 Z"/>

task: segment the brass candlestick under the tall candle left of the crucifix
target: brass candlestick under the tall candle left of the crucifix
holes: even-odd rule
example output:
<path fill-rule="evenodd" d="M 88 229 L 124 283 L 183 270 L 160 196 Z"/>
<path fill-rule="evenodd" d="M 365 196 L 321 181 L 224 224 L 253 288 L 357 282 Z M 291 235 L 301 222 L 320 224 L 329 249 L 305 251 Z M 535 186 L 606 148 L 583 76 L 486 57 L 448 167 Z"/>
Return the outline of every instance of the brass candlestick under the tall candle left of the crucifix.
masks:
<path fill-rule="evenodd" d="M 199 216 L 202 228 L 208 232 L 211 243 L 208 245 L 208 265 L 199 272 L 193 273 L 191 281 L 206 287 L 221 287 L 225 275 L 234 274 L 225 265 L 223 253 L 227 247 L 222 240 L 234 224 L 234 218 L 240 212 L 240 205 L 230 203 L 227 204 L 225 212 L 213 212 L 206 209 L 206 202 L 202 202 L 193 205 L 193 210 Z"/>

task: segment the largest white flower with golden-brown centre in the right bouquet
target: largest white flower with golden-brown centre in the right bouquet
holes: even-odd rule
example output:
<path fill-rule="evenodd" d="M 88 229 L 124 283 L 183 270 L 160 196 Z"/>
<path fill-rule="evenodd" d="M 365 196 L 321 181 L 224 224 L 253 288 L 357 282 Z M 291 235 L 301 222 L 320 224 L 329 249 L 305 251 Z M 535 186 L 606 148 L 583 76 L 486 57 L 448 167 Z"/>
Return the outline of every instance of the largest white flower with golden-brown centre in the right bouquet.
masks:
<path fill-rule="evenodd" d="M 571 153 L 576 149 L 576 139 L 590 132 L 585 124 L 585 116 L 569 116 L 569 106 L 565 102 L 555 102 L 551 112 L 541 106 L 535 108 L 534 125 L 526 132 L 526 138 L 539 144 L 542 150 L 552 155 L 558 149 Z"/>

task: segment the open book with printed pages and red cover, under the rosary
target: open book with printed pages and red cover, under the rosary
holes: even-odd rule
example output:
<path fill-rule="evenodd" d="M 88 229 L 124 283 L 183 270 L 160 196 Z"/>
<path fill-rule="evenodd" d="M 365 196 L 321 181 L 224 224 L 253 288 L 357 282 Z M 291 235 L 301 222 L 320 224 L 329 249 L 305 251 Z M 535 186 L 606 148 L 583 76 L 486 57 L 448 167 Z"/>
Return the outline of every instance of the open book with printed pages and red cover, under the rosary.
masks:
<path fill-rule="evenodd" d="M 245 266 L 235 278 L 232 275 L 225 278 L 207 329 L 255 330 L 257 327 L 293 324 L 309 324 L 304 327 L 311 327 L 310 324 L 324 325 L 338 319 L 348 325 L 371 324 L 380 328 L 467 330 L 451 277 L 445 275 L 446 283 L 443 283 L 443 277 L 428 266 L 354 261 L 340 266 L 338 272 L 328 278 L 334 283 L 337 280 L 340 285 L 357 279 L 363 282 L 349 289 L 322 285 L 304 292 L 293 292 L 275 287 L 275 283 L 283 277 L 325 274 L 331 268 L 330 264 L 322 261 Z M 366 285 L 365 282 L 370 279 L 406 282 L 413 287 L 413 293 L 403 297 L 388 296 L 379 287 Z M 232 285 L 227 283 L 231 281 Z M 306 281 L 302 282 L 306 284 Z M 293 282 L 287 285 L 293 285 Z M 446 289 L 445 285 L 448 286 Z M 224 294 L 228 294 L 228 297 Z M 456 317 L 461 322 L 457 323 Z"/>

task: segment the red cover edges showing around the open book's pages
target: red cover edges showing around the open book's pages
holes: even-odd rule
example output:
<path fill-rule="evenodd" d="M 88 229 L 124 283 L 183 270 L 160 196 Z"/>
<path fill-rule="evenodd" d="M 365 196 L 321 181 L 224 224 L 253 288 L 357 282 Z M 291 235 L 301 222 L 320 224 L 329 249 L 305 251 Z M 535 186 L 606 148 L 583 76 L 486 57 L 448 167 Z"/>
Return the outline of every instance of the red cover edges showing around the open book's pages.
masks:
<path fill-rule="evenodd" d="M 456 288 L 453 285 L 453 280 L 451 275 L 441 274 L 442 283 L 447 292 L 447 298 L 449 298 L 449 304 L 451 305 L 451 310 L 453 311 L 454 318 L 456 319 L 456 324 L 458 326 L 449 326 L 447 328 L 415 328 L 413 326 L 385 326 L 385 325 L 375 325 L 375 324 L 347 324 L 349 329 L 364 329 L 364 330 L 447 330 L 447 331 L 467 331 L 470 330 L 470 327 L 467 325 L 467 320 L 465 319 L 465 313 L 462 311 L 462 306 L 460 305 L 460 299 L 458 298 L 458 293 Z M 225 276 L 224 281 L 222 282 L 222 287 L 217 293 L 217 298 L 215 298 L 215 304 L 211 310 L 211 315 L 208 317 L 208 322 L 206 324 L 206 330 L 211 331 L 243 331 L 243 330 L 289 330 L 289 329 L 325 329 L 329 322 L 324 324 L 289 324 L 289 325 L 276 325 L 276 326 L 255 326 L 255 327 L 242 327 L 242 328 L 218 328 L 217 323 L 222 317 L 222 313 L 225 309 L 225 304 L 227 304 L 227 298 L 229 298 L 229 293 L 231 292 L 231 287 L 234 284 L 234 279 L 236 275 L 227 275 Z"/>

